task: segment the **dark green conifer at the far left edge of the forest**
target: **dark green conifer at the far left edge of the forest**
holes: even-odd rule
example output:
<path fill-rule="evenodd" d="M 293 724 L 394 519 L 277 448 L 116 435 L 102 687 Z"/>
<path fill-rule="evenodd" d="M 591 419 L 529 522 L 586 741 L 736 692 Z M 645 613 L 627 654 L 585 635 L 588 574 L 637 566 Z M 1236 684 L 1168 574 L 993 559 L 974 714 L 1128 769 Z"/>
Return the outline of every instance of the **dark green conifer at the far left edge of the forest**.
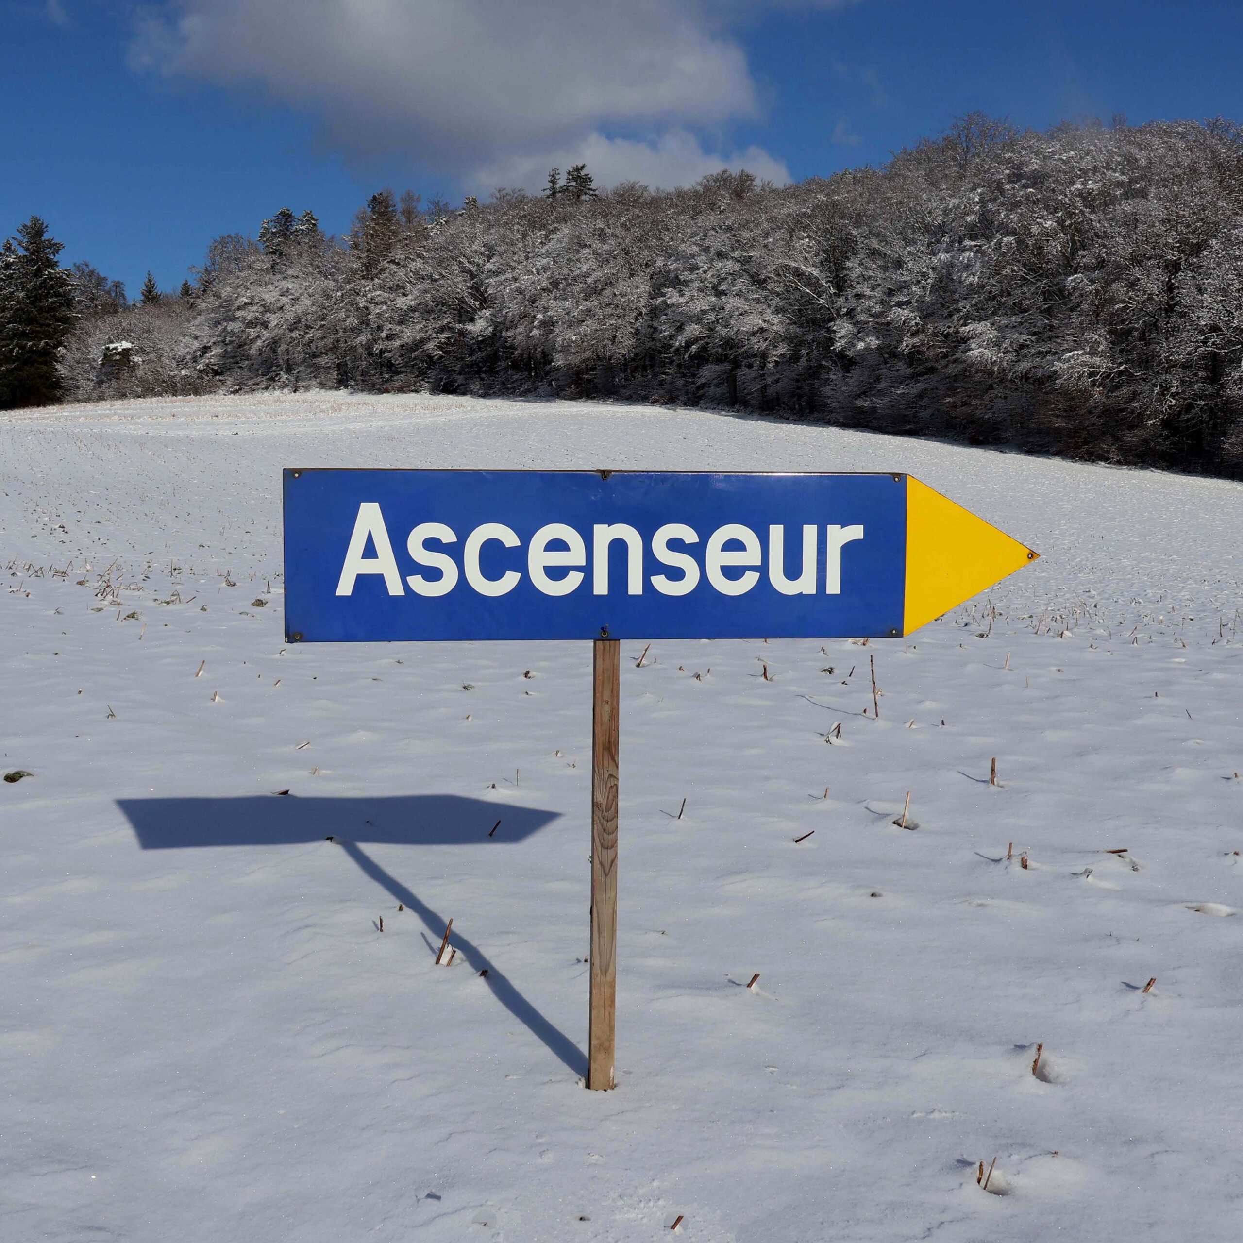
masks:
<path fill-rule="evenodd" d="M 19 249 L 20 247 L 20 249 Z M 31 216 L 0 246 L 0 405 L 46 405 L 62 392 L 56 362 L 78 318 L 65 249 Z"/>

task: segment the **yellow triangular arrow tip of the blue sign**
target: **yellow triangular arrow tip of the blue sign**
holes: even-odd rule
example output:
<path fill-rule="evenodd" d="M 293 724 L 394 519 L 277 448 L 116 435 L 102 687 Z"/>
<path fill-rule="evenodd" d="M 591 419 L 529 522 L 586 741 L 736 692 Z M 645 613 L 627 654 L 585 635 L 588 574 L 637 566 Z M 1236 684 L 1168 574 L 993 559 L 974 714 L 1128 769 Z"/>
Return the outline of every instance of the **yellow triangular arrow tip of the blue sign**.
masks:
<path fill-rule="evenodd" d="M 902 633 L 917 630 L 1039 556 L 907 475 Z"/>

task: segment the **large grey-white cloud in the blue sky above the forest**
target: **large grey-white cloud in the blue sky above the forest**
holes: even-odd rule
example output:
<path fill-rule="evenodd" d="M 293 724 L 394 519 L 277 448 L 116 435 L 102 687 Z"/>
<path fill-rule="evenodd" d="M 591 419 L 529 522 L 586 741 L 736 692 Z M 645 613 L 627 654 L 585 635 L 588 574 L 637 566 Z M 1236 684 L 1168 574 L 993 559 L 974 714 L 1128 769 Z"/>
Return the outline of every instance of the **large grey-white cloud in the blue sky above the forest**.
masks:
<path fill-rule="evenodd" d="M 471 188 L 536 188 L 579 160 L 605 185 L 742 165 L 788 180 L 762 148 L 705 150 L 697 134 L 758 116 L 731 20 L 835 2 L 168 0 L 131 63 L 259 88 L 318 112 L 347 152 L 404 152 Z"/>

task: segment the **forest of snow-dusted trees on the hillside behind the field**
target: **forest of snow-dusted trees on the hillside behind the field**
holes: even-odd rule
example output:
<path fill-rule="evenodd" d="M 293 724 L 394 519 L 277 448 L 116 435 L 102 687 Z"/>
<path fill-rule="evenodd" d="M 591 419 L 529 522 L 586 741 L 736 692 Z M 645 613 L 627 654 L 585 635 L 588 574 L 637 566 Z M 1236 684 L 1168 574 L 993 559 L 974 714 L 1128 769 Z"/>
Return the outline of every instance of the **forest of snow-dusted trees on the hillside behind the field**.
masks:
<path fill-rule="evenodd" d="M 382 191 L 344 239 L 290 210 L 216 239 L 178 296 L 72 280 L 72 400 L 624 398 L 1243 475 L 1243 127 L 1224 121 L 973 116 L 782 188 L 597 193 L 578 167 L 454 208 Z M 0 308 L 0 392 L 2 351 Z"/>

